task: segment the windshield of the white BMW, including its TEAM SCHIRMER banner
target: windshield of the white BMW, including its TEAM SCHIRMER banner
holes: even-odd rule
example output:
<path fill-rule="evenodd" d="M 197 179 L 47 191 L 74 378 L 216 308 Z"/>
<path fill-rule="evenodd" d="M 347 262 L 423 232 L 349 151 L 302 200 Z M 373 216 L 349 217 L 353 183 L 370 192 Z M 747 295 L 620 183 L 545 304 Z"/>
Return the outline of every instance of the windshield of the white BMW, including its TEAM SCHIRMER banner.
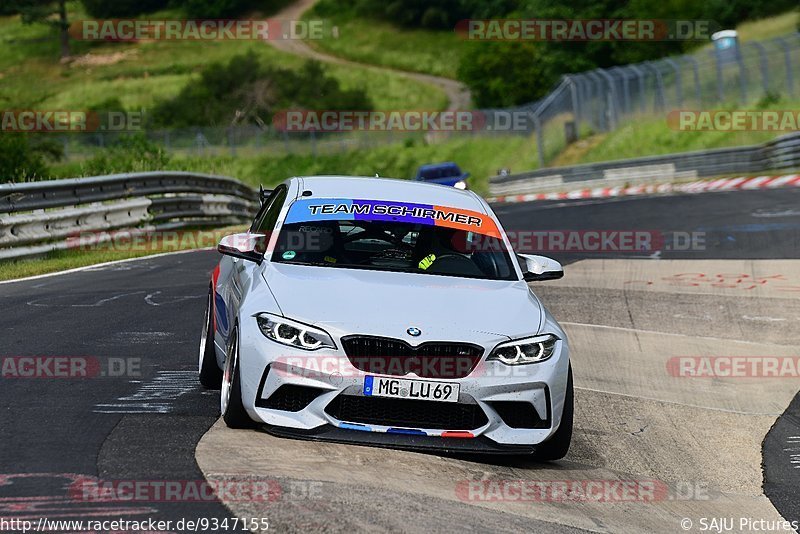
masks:
<path fill-rule="evenodd" d="M 352 211 L 354 205 L 356 209 L 363 207 L 358 202 L 352 200 L 318 203 L 317 213 L 314 214 L 317 217 L 306 216 L 305 211 L 308 208 L 313 209 L 312 204 L 304 200 L 295 202 L 287 222 L 280 230 L 272 261 L 490 280 L 516 279 L 510 255 L 499 238 L 499 231 L 485 215 L 465 215 L 475 212 L 460 210 L 462 222 L 458 222 L 455 216 L 450 217 L 454 211 L 447 211 L 446 208 L 445 211 L 437 212 L 433 206 L 374 202 L 366 205 L 380 214 L 361 213 L 361 219 L 356 219 L 353 215 L 341 215 L 348 208 Z M 301 204 L 299 209 L 298 204 Z M 331 213 L 322 213 L 321 206 L 329 206 L 328 211 Z M 339 208 L 337 216 L 334 213 L 336 206 L 347 208 Z M 412 212 L 410 216 L 392 216 L 384 213 L 387 206 L 427 211 Z M 431 212 L 432 216 L 429 218 L 416 217 Z M 445 220 L 450 226 L 435 224 L 436 217 L 439 217 L 440 223 Z M 304 220 L 297 220 L 298 218 Z M 415 220 L 404 220 L 409 218 Z M 471 230 L 467 224 L 469 222 L 476 226 L 477 223 L 491 223 L 487 224 L 492 228 L 491 235 Z"/>

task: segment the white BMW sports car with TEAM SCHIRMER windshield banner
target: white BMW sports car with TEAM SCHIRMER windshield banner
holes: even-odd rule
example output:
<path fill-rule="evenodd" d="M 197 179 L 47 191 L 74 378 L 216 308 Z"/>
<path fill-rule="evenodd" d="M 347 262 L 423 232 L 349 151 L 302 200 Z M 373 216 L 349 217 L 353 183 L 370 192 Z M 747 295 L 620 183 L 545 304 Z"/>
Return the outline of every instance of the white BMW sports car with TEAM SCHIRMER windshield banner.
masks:
<path fill-rule="evenodd" d="M 563 276 L 515 255 L 471 191 L 291 178 L 225 237 L 200 381 L 229 427 L 411 449 L 562 458 L 564 331 L 528 287 Z"/>

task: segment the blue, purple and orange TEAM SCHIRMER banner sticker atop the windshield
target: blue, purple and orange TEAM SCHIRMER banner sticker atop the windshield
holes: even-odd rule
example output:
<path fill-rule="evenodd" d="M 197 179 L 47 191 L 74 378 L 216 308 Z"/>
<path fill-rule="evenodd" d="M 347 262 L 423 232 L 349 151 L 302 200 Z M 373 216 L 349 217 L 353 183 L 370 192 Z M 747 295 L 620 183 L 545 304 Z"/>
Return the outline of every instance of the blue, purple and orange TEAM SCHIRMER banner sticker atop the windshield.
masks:
<path fill-rule="evenodd" d="M 299 199 L 289 209 L 286 224 L 326 220 L 427 224 L 500 237 L 494 220 L 477 211 L 388 200 Z"/>

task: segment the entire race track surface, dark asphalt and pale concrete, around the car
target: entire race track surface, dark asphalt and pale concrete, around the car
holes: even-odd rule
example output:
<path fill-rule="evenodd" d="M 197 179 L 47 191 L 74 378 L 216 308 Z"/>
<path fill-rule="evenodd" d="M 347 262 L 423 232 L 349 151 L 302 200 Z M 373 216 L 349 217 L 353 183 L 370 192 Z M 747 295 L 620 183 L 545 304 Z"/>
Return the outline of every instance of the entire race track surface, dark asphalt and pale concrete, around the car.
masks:
<path fill-rule="evenodd" d="M 536 291 L 570 336 L 576 385 L 573 448 L 552 464 L 294 441 L 215 425 L 218 393 L 202 390 L 195 376 L 215 252 L 0 284 L 0 517 L 265 517 L 273 532 L 461 525 L 699 532 L 710 517 L 737 518 L 737 527 L 743 517 L 800 520 L 800 464 L 792 463 L 800 458 L 797 379 L 678 376 L 669 363 L 797 358 L 799 200 L 800 191 L 774 190 L 497 206 L 516 232 L 636 230 L 666 245 L 681 242 L 660 251 L 543 252 L 567 264 L 563 280 Z M 675 236 L 692 233 L 704 238 L 686 250 Z M 12 376 L 19 368 L 7 362 L 20 357 L 77 358 L 95 372 Z M 152 488 L 204 476 L 260 477 L 280 491 L 267 500 L 226 499 L 227 507 L 205 498 L 120 502 L 74 491 L 87 480 Z M 490 499 L 469 489 L 531 481 L 637 481 L 661 491 L 597 502 Z"/>

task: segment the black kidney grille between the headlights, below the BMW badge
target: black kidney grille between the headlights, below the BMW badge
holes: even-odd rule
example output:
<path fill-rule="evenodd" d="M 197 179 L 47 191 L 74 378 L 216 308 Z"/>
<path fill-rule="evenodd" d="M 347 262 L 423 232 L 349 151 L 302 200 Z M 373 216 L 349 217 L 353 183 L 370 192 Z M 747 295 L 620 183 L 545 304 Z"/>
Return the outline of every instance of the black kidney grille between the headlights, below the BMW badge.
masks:
<path fill-rule="evenodd" d="M 423 378 L 464 378 L 481 361 L 483 347 L 428 341 L 412 347 L 402 339 L 348 336 L 342 346 L 350 363 L 365 373 Z"/>

